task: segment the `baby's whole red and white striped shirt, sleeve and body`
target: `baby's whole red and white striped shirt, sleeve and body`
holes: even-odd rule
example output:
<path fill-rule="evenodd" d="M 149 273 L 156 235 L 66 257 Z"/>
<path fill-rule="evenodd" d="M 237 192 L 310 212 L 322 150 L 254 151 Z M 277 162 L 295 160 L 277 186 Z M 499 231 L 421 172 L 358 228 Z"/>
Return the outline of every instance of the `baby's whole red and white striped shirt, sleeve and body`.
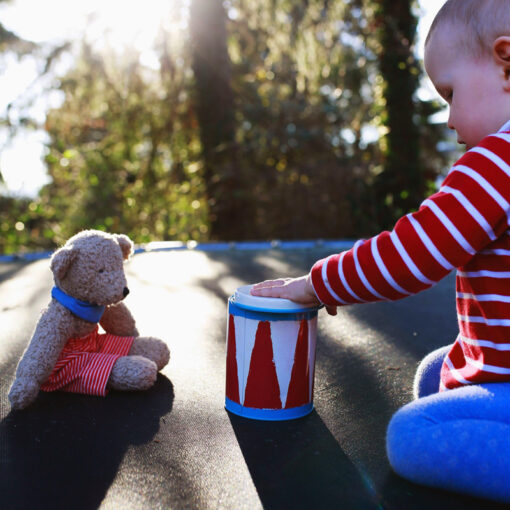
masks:
<path fill-rule="evenodd" d="M 437 193 L 392 232 L 311 270 L 327 305 L 396 300 L 457 268 L 459 335 L 440 389 L 510 381 L 510 122 L 452 167 Z"/>

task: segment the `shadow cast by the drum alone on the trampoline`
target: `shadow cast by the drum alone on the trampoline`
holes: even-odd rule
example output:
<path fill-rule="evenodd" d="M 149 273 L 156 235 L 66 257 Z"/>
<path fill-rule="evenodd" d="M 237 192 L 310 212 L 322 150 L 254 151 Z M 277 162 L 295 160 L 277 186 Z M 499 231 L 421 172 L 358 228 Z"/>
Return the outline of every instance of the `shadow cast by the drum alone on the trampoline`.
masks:
<path fill-rule="evenodd" d="M 369 476 L 316 411 L 281 422 L 229 419 L 263 508 L 381 508 Z"/>

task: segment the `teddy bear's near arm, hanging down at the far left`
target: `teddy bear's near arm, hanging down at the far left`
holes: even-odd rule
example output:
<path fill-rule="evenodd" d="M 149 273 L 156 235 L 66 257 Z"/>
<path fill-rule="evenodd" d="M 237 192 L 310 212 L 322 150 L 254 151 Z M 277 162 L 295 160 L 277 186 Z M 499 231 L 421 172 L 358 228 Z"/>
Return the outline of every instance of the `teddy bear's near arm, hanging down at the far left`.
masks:
<path fill-rule="evenodd" d="M 16 379 L 9 392 L 9 400 L 14 409 L 22 409 L 35 400 L 68 338 L 69 324 L 50 305 L 41 315 L 18 364 Z"/>

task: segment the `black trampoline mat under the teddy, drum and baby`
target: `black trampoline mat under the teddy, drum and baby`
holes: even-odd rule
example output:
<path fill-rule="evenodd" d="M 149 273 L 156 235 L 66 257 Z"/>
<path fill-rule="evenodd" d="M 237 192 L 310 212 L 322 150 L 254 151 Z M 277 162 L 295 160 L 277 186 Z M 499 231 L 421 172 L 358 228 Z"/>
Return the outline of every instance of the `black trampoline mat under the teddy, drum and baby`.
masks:
<path fill-rule="evenodd" d="M 308 416 L 229 414 L 226 304 L 236 287 L 298 276 L 321 249 L 136 255 L 126 304 L 170 363 L 143 393 L 40 393 L 12 413 L 7 393 L 40 310 L 49 261 L 0 265 L 0 497 L 6 509 L 477 509 L 500 505 L 412 484 L 385 453 L 391 415 L 411 400 L 419 361 L 456 335 L 454 278 L 393 303 L 319 313 Z M 503 508 L 503 506 L 501 506 Z"/>

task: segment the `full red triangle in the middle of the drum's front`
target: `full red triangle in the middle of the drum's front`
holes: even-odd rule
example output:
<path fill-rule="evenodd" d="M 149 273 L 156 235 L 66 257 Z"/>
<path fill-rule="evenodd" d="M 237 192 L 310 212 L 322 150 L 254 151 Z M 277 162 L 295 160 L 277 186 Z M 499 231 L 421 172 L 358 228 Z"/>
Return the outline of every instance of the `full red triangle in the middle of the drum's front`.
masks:
<path fill-rule="evenodd" d="M 244 405 L 257 409 L 282 408 L 271 342 L 271 325 L 268 321 L 260 322 L 257 327 Z"/>

